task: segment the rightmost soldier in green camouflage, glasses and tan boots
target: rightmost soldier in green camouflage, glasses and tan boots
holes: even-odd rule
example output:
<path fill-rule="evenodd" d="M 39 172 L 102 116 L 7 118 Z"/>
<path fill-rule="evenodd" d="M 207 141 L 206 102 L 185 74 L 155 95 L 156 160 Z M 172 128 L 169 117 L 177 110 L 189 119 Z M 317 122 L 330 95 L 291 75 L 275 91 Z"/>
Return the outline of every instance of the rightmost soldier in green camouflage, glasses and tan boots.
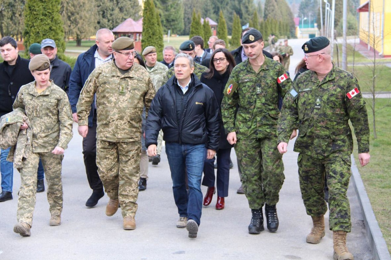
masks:
<path fill-rule="evenodd" d="M 357 79 L 331 61 L 330 42 L 315 37 L 302 46 L 307 68 L 294 82 L 283 101 L 278 128 L 278 150 L 287 151 L 289 133 L 299 128 L 294 151 L 299 152 L 299 180 L 313 228 L 307 242 L 317 244 L 325 236 L 327 205 L 323 187 L 329 188 L 329 226 L 333 231 L 334 259 L 353 259 L 346 248 L 350 232 L 349 185 L 352 131 L 357 137 L 361 166 L 369 162 L 369 126 L 365 101 Z"/>

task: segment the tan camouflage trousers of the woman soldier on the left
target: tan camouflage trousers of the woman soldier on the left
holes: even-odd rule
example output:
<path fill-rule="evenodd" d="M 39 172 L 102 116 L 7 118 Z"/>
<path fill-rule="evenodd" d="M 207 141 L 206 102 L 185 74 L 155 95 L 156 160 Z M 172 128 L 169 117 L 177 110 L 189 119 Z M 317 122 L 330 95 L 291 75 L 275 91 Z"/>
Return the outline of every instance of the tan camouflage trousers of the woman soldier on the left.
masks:
<path fill-rule="evenodd" d="M 36 202 L 37 169 L 41 157 L 47 182 L 47 198 L 49 211 L 52 215 L 61 215 L 63 210 L 63 183 L 61 169 L 64 155 L 54 155 L 51 152 L 33 153 L 29 151 L 28 158 L 23 158 L 23 167 L 19 168 L 21 185 L 18 192 L 18 222 L 32 226 L 32 215 Z"/>

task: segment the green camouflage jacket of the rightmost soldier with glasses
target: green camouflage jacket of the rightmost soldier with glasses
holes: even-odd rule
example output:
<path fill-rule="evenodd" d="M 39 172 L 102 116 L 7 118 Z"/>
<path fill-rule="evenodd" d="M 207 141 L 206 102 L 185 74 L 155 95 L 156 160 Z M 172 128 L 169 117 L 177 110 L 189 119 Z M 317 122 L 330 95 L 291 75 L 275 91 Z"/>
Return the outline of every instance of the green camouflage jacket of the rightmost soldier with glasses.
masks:
<path fill-rule="evenodd" d="M 298 121 L 294 151 L 316 158 L 352 153 L 350 119 L 359 153 L 369 152 L 368 115 L 359 89 L 357 79 L 334 63 L 322 82 L 314 71 L 304 72 L 285 95 L 278 142 L 289 141 Z"/>

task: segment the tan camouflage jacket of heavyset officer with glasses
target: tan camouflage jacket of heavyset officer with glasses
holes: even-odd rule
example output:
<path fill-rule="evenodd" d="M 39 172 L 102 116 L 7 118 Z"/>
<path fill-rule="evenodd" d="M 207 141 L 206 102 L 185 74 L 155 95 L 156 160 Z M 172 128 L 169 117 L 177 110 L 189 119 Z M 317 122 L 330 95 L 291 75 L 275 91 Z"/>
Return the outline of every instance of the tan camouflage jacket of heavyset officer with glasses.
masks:
<path fill-rule="evenodd" d="M 155 96 L 148 72 L 134 64 L 124 75 L 114 61 L 95 68 L 77 102 L 79 125 L 88 125 L 88 113 L 96 93 L 97 139 L 111 142 L 140 141 L 141 115 Z"/>

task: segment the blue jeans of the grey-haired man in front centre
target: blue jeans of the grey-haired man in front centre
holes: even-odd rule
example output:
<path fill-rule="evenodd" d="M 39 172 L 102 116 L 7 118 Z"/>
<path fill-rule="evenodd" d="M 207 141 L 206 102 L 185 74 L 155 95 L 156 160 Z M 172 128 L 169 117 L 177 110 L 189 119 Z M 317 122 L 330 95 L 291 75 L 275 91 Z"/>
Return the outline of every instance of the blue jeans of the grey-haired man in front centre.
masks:
<path fill-rule="evenodd" d="M 201 220 L 201 178 L 204 167 L 205 144 L 178 144 L 166 142 L 166 154 L 172 179 L 172 191 L 180 217 Z M 186 171 L 185 171 L 186 168 Z M 189 194 L 187 195 L 185 173 L 187 172 Z"/>

